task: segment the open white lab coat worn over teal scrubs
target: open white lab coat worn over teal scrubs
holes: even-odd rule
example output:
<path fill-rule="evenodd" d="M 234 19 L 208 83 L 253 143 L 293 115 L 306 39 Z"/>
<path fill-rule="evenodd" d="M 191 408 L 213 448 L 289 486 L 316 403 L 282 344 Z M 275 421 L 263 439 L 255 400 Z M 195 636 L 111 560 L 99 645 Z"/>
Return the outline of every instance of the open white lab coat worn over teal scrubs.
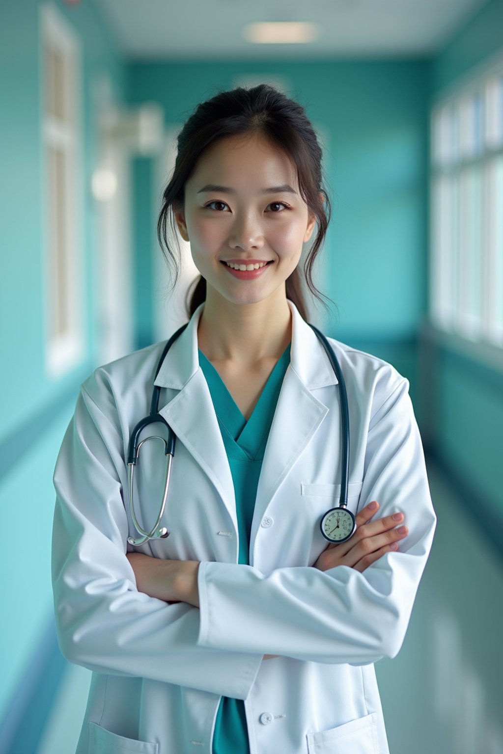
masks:
<path fill-rule="evenodd" d="M 201 561 L 199 609 L 138 592 L 125 557 L 136 532 L 124 458 L 149 413 L 164 344 L 100 367 L 81 387 L 54 472 L 52 566 L 61 649 L 94 672 L 78 754 L 210 754 L 222 695 L 244 700 L 251 754 L 388 752 L 373 663 L 400 649 L 434 534 L 422 443 L 406 379 L 330 339 L 348 389 L 348 505 L 376 499 L 379 516 L 401 510 L 409 535 L 363 573 L 314 569 L 327 547 L 321 516 L 338 504 L 339 390 L 317 336 L 289 305 L 291 363 L 265 449 L 250 566 L 238 565 L 232 475 L 198 365 L 204 305 L 155 380 L 178 438 L 163 520 L 171 534 L 136 549 Z M 162 449 L 147 448 L 160 444 L 140 452 L 136 510 L 147 527 L 165 467 Z"/>

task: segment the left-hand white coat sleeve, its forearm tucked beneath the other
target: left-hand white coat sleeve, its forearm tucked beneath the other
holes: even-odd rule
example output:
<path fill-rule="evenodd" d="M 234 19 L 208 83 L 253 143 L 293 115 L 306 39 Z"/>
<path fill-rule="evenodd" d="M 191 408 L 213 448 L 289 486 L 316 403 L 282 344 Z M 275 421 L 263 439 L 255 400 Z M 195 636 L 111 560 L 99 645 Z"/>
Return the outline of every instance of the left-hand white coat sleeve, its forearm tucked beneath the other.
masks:
<path fill-rule="evenodd" d="M 98 673 L 141 676 L 245 699 L 261 654 L 199 646 L 199 611 L 136 590 L 126 558 L 123 440 L 84 389 L 54 471 L 52 577 L 63 655 Z"/>

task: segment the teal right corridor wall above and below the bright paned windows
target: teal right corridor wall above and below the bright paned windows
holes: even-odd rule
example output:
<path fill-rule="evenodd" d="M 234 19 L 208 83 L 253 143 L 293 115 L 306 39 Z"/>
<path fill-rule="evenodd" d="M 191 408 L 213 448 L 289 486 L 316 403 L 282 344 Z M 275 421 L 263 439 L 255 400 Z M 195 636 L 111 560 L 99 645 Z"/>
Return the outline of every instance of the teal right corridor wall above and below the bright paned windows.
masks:
<path fill-rule="evenodd" d="M 432 101 L 477 66 L 503 54 L 501 29 L 503 0 L 492 0 L 431 61 Z M 434 342 L 430 353 L 425 391 L 435 410 L 428 412 L 429 442 L 503 527 L 503 374 L 469 354 L 460 356 L 445 342 Z"/>

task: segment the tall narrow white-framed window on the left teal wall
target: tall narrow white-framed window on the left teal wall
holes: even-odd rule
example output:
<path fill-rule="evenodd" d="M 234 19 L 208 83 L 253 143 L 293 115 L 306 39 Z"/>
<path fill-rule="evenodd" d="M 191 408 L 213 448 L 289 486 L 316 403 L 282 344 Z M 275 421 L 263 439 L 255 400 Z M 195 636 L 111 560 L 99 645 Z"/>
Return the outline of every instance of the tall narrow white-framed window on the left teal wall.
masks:
<path fill-rule="evenodd" d="M 41 6 L 45 350 L 53 376 L 78 363 L 83 350 L 78 57 L 72 29 L 53 5 Z"/>

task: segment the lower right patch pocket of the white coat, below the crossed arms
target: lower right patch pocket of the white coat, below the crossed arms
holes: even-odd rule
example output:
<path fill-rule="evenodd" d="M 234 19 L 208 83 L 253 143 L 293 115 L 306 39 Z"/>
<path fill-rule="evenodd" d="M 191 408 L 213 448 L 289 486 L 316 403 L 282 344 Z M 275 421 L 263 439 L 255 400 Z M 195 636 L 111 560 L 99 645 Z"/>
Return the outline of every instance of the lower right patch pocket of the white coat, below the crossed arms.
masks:
<path fill-rule="evenodd" d="M 309 754 L 379 754 L 377 713 L 330 731 L 308 733 L 307 739 Z"/>

